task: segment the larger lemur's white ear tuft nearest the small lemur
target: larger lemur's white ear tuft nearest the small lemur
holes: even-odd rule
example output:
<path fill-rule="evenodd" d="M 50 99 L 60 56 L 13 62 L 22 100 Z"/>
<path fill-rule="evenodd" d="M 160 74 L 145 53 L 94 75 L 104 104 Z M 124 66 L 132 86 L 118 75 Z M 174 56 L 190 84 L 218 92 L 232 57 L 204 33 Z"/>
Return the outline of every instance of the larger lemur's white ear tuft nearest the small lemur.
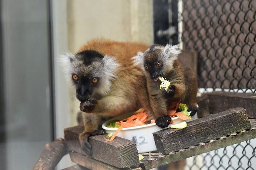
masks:
<path fill-rule="evenodd" d="M 104 73 L 107 74 L 105 76 L 109 79 L 114 78 L 117 68 L 119 67 L 117 59 L 112 56 L 104 56 L 102 62 L 104 64 Z"/>

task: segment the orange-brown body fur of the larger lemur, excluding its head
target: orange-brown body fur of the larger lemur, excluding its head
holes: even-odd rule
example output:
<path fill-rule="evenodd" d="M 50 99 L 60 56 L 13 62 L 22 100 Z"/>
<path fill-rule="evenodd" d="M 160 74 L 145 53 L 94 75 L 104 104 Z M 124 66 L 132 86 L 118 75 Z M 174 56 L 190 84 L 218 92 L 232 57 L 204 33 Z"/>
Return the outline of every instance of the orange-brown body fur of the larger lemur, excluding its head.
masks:
<path fill-rule="evenodd" d="M 85 134 L 97 130 L 100 115 L 116 116 L 140 107 L 135 84 L 142 72 L 139 67 L 133 65 L 131 58 L 136 56 L 137 51 L 145 51 L 147 48 L 148 46 L 142 43 L 117 42 L 101 38 L 88 41 L 77 51 L 80 53 L 85 50 L 94 50 L 103 56 L 113 56 L 120 64 L 116 73 L 117 78 L 112 80 L 109 93 L 97 100 L 98 103 L 92 113 L 83 112 L 82 114 L 85 131 L 80 134 L 81 143 Z"/>

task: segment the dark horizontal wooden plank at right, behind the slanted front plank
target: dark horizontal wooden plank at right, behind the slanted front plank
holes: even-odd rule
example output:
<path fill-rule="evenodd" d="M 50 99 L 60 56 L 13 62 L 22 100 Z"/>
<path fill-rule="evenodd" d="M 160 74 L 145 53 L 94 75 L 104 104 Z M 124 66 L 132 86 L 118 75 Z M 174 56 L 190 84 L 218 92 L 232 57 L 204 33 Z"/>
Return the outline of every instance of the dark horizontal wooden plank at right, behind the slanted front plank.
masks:
<path fill-rule="evenodd" d="M 237 93 L 237 92 L 210 92 L 206 93 L 209 97 L 209 110 L 211 113 L 222 112 L 234 107 L 246 109 L 250 118 L 256 119 L 256 94 Z"/>

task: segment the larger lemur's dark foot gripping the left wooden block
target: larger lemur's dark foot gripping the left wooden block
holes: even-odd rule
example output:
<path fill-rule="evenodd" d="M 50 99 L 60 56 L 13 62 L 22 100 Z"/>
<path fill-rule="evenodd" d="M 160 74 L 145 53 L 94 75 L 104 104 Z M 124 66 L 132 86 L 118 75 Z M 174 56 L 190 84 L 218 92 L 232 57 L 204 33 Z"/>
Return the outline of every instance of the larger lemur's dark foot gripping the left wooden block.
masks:
<path fill-rule="evenodd" d="M 82 132 L 79 135 L 79 141 L 80 141 L 80 145 L 81 148 L 88 154 L 88 155 L 92 155 L 92 145 L 89 143 L 89 137 L 90 136 L 94 136 L 94 135 L 103 135 L 105 134 L 105 131 L 103 130 L 96 130 L 92 133 L 84 133 Z"/>

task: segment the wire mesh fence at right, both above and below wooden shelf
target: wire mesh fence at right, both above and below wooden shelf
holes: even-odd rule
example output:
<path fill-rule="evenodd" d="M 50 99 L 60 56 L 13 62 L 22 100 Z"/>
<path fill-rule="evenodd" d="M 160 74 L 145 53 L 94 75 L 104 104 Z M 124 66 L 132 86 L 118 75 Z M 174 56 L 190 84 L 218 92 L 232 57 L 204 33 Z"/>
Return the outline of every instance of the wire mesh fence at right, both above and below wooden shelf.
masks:
<path fill-rule="evenodd" d="M 198 54 L 199 87 L 255 93 L 256 0 L 175 2 L 181 48 Z M 256 169 L 256 140 L 195 156 L 186 169 Z"/>

